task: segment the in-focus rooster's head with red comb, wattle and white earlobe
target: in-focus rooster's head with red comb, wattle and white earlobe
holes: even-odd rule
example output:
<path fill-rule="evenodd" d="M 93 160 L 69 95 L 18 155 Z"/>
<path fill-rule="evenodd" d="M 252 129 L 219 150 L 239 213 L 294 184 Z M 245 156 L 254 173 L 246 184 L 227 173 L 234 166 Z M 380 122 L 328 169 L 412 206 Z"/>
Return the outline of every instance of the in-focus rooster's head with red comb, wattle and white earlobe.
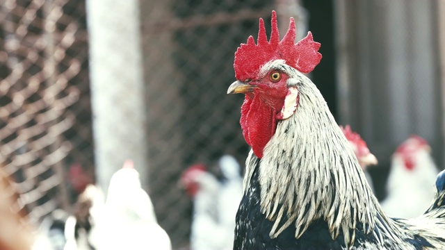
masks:
<path fill-rule="evenodd" d="M 275 133 L 277 121 L 296 112 L 299 76 L 312 72 L 321 60 L 320 44 L 314 42 L 312 33 L 300 42 L 295 40 L 296 26 L 291 18 L 289 29 L 280 41 L 277 14 L 273 11 L 270 40 L 263 19 L 259 19 L 257 44 L 250 36 L 247 44 L 241 44 L 235 53 L 237 81 L 229 86 L 227 94 L 245 94 L 241 128 L 258 158 L 262 158 L 264 147 Z"/>

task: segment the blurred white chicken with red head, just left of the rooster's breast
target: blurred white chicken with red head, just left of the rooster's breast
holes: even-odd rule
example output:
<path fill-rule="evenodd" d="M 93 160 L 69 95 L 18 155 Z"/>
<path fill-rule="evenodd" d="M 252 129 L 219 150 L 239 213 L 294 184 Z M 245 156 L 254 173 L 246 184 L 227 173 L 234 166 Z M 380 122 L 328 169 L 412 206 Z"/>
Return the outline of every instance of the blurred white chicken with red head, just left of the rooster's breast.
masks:
<path fill-rule="evenodd" d="M 220 158 L 219 182 L 202 164 L 188 167 L 181 183 L 193 198 L 191 249 L 233 249 L 236 210 L 242 196 L 242 178 L 232 156 Z"/>

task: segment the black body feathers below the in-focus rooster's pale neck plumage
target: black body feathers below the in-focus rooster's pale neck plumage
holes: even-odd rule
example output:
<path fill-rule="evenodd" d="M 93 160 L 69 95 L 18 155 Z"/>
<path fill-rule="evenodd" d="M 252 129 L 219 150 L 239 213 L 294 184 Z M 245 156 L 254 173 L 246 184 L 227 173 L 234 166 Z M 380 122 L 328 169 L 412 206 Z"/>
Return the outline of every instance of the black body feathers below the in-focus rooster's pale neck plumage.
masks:
<path fill-rule="evenodd" d="M 273 227 L 273 223 L 266 219 L 265 215 L 260 211 L 260 192 L 261 186 L 258 181 L 259 160 L 257 160 L 250 184 L 247 192 L 243 195 L 240 208 L 236 214 L 236 229 L 234 250 L 242 249 L 265 249 L 265 250 L 316 250 L 316 249 L 346 249 L 346 244 L 343 240 L 342 233 L 339 234 L 336 240 L 332 240 L 327 222 L 323 219 L 314 221 L 303 233 L 300 238 L 295 237 L 296 228 L 291 225 L 286 228 L 277 238 L 270 238 L 269 233 Z M 298 197 L 297 197 L 298 198 Z M 381 220 L 380 215 L 377 215 Z M 405 228 L 405 219 L 394 219 L 394 222 L 399 224 L 401 228 Z M 364 233 L 361 226 L 355 228 L 355 243 L 352 249 L 374 249 L 372 246 L 378 245 L 380 236 L 380 229 L 374 228 L 372 233 Z M 433 247 L 426 238 L 416 234 L 414 238 L 405 238 L 412 249 L 426 249 L 426 247 Z M 442 238 L 437 238 L 438 241 L 444 241 Z M 394 242 L 387 242 L 381 245 L 383 248 L 378 249 L 403 249 L 403 247 L 393 244 Z"/>

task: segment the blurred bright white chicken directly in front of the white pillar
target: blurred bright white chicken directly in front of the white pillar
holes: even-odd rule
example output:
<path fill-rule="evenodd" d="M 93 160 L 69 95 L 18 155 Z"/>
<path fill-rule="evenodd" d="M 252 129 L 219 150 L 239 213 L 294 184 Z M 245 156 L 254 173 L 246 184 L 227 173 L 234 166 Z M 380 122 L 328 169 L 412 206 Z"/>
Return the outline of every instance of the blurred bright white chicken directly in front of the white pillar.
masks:
<path fill-rule="evenodd" d="M 97 228 L 97 229 L 96 229 Z M 103 216 L 92 236 L 96 249 L 171 249 L 170 238 L 159 226 L 147 192 L 141 188 L 133 161 L 111 177 Z"/>

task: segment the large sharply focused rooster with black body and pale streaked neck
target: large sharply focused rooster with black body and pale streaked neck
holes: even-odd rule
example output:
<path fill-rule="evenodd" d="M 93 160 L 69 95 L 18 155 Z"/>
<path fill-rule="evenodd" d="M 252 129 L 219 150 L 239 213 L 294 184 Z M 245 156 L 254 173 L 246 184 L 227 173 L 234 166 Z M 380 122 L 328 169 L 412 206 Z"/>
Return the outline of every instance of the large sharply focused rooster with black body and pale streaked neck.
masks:
<path fill-rule="evenodd" d="M 444 249 L 445 209 L 419 219 L 391 219 L 380 207 L 354 151 L 316 85 L 303 73 L 320 62 L 320 44 L 296 28 L 280 40 L 272 13 L 270 40 L 260 19 L 235 53 L 243 93 L 241 128 L 252 147 L 234 249 Z M 438 192 L 441 190 L 438 189 Z"/>

